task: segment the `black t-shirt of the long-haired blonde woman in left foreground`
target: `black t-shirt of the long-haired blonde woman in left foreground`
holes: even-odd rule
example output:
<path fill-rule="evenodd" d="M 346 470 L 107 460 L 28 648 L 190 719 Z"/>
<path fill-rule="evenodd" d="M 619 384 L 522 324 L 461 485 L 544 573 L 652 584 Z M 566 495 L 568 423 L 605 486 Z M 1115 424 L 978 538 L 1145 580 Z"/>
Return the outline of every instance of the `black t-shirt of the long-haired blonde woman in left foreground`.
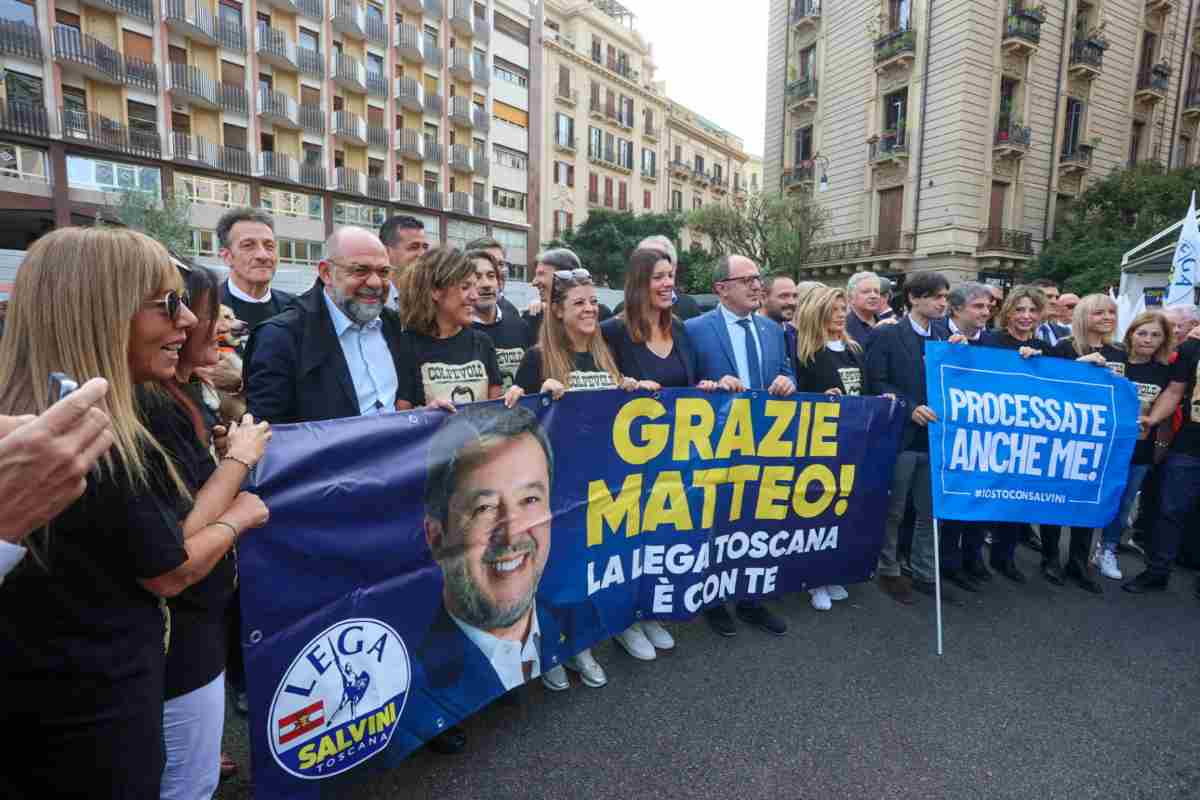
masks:
<path fill-rule="evenodd" d="M 150 489 L 108 470 L 89 476 L 50 527 L 48 565 L 26 555 L 0 584 L 5 712 L 86 724 L 162 703 L 166 610 L 138 579 L 170 572 L 187 552 L 184 499 L 161 457 L 146 461 Z"/>

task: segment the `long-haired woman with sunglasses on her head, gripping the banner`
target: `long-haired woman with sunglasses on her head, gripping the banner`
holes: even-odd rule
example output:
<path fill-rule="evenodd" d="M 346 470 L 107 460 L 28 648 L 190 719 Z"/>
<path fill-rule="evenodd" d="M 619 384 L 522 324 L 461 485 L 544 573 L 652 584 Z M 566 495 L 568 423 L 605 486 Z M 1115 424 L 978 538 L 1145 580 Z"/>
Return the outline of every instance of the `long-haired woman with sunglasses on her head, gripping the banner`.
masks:
<path fill-rule="evenodd" d="M 600 301 L 588 271 L 558 270 L 550 279 L 550 303 L 538 344 L 522 359 L 514 390 L 520 389 L 526 395 L 545 392 L 559 399 L 569 391 L 638 387 L 632 378 L 622 379 L 600 336 Z M 593 688 L 608 682 L 590 649 L 568 658 L 566 667 L 580 673 L 584 685 Z M 571 687 L 562 664 L 542 673 L 541 681 L 556 692 Z"/>

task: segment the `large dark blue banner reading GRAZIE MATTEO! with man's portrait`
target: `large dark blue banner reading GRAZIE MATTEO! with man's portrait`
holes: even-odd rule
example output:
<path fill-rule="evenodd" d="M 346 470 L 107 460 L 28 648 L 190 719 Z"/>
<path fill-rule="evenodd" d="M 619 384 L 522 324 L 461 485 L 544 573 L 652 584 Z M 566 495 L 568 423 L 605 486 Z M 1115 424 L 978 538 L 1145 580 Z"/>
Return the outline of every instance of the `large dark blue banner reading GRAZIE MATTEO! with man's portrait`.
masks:
<path fill-rule="evenodd" d="M 276 428 L 239 546 L 254 796 L 395 763 L 637 619 L 865 581 L 905 414 L 608 390 Z"/>

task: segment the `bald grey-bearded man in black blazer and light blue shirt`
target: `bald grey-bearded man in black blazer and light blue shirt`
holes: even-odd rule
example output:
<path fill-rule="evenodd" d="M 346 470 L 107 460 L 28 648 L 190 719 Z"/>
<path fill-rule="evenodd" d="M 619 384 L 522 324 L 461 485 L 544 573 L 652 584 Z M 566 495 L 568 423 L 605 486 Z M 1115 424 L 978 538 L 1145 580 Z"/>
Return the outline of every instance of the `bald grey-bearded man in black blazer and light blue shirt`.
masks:
<path fill-rule="evenodd" d="M 392 266 L 370 230 L 346 227 L 325 243 L 320 279 L 264 323 L 246 356 L 246 403 L 272 423 L 382 414 L 412 374 L 397 354 L 400 318 L 384 308 Z"/>

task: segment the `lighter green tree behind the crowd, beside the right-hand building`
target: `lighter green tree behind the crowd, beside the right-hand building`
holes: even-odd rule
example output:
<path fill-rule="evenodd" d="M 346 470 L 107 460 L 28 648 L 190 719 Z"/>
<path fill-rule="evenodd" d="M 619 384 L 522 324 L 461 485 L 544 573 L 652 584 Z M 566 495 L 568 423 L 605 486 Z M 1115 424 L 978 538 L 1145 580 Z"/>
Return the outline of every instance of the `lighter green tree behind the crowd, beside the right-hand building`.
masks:
<path fill-rule="evenodd" d="M 751 194 L 739 205 L 714 204 L 688 215 L 688 228 L 708 236 L 716 255 L 737 253 L 764 272 L 798 277 L 829 215 L 804 196 Z"/>

